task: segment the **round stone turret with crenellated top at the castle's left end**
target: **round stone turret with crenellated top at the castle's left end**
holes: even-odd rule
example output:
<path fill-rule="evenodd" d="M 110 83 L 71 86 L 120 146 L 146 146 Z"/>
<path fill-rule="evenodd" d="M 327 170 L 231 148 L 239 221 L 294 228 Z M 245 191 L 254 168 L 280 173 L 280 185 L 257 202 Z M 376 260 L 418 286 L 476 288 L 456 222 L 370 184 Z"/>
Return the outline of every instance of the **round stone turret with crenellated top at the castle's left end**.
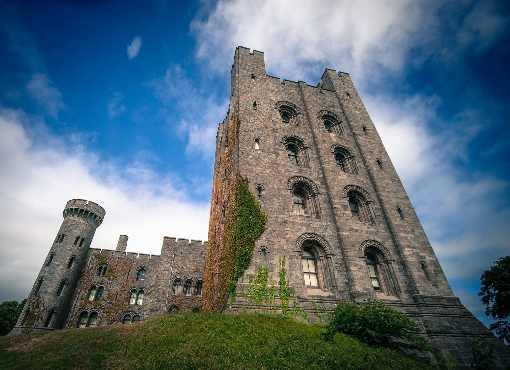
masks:
<path fill-rule="evenodd" d="M 71 199 L 64 221 L 37 276 L 29 299 L 10 334 L 60 329 L 85 266 L 105 209 L 85 199 Z"/>

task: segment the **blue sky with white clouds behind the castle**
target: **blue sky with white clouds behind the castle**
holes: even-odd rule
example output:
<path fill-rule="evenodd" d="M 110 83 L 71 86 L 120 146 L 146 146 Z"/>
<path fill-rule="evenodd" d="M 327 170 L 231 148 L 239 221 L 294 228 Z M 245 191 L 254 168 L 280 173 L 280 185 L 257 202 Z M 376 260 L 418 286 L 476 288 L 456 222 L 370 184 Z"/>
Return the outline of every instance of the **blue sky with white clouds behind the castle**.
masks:
<path fill-rule="evenodd" d="M 26 298 L 69 199 L 91 247 L 207 240 L 235 47 L 350 73 L 457 297 L 510 254 L 510 5 L 459 0 L 0 1 L 0 302 Z"/>

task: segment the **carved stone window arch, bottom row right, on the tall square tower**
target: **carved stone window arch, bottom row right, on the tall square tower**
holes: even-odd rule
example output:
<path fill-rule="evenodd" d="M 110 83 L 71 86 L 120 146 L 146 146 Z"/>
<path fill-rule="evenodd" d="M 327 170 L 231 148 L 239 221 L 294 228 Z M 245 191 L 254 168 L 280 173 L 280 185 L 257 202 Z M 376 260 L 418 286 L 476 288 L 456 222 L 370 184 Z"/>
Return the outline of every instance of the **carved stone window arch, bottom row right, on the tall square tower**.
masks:
<path fill-rule="evenodd" d="M 365 259 L 370 287 L 374 292 L 394 296 L 400 293 L 389 250 L 375 240 L 366 240 L 360 245 L 360 258 Z"/>

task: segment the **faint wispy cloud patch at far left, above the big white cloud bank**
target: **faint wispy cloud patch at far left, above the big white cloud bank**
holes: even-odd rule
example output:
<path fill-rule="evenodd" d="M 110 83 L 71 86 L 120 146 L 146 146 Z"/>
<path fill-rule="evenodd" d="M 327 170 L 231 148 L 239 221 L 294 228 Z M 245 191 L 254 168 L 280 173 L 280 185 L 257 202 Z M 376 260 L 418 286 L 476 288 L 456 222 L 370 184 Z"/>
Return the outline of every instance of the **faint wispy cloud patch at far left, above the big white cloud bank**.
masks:
<path fill-rule="evenodd" d="M 25 88 L 53 118 L 58 118 L 59 112 L 66 108 L 62 94 L 52 86 L 52 82 L 44 73 L 34 74 Z"/>

